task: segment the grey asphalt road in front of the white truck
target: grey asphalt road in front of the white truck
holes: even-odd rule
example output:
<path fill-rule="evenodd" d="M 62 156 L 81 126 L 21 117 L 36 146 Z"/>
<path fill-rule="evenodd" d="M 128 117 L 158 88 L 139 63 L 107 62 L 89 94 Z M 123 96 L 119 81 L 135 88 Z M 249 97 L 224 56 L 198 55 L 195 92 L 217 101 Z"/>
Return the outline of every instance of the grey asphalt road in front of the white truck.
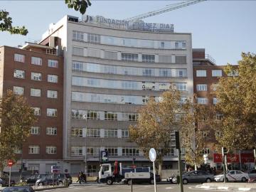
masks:
<path fill-rule="evenodd" d="M 214 191 L 208 189 L 194 188 L 196 185 L 188 184 L 184 186 L 184 192 L 197 192 L 197 191 Z M 154 185 L 133 185 L 127 186 L 124 184 L 113 184 L 107 186 L 105 184 L 92 184 L 84 186 L 70 186 L 69 188 L 58 188 L 54 190 L 48 190 L 48 192 L 154 192 Z M 176 184 L 159 184 L 156 186 L 157 192 L 179 192 L 180 188 Z M 216 191 L 215 191 L 216 192 Z"/>

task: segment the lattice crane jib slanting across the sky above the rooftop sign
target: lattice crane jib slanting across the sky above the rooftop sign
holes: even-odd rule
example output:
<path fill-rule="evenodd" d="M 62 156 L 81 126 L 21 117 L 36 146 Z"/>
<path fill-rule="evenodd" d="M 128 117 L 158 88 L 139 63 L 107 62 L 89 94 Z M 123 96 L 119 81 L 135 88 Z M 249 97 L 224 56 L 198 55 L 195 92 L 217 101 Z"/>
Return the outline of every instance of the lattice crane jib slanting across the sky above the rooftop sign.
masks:
<path fill-rule="evenodd" d="M 131 18 L 126 18 L 124 20 L 126 20 L 126 21 L 138 21 L 138 20 L 143 19 L 143 18 L 147 18 L 147 17 L 150 17 L 150 16 L 156 16 L 158 14 L 163 14 L 163 13 L 168 12 L 168 11 L 172 11 L 172 10 L 175 10 L 175 9 L 180 9 L 182 7 L 190 6 L 192 4 L 198 4 L 202 1 L 206 1 L 206 0 L 183 1 L 183 2 L 177 3 L 177 4 L 170 4 L 170 5 L 167 5 L 166 7 L 162 8 L 162 9 L 159 9 L 159 10 L 156 10 L 156 11 L 150 11 L 146 14 L 140 14 L 138 16 L 134 16 L 134 17 L 131 17 Z"/>

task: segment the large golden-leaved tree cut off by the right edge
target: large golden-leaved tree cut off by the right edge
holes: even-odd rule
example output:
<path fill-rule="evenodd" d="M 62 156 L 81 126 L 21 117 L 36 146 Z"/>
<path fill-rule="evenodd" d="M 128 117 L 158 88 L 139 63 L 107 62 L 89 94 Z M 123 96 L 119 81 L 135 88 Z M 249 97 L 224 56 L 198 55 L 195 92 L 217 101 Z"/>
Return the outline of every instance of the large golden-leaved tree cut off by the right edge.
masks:
<path fill-rule="evenodd" d="M 215 92 L 217 110 L 223 115 L 220 135 L 216 137 L 220 146 L 228 151 L 255 147 L 256 130 L 256 56 L 242 53 L 238 66 L 225 68 L 228 77 L 220 78 Z M 238 74 L 238 75 L 234 75 Z"/>

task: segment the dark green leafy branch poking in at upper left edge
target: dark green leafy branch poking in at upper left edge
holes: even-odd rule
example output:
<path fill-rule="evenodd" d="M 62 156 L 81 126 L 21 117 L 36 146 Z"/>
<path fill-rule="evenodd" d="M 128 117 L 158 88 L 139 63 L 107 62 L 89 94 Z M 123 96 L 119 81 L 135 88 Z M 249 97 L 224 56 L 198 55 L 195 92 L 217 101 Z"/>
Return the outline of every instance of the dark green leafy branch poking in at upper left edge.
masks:
<path fill-rule="evenodd" d="M 12 20 L 11 17 L 9 17 L 9 12 L 4 10 L 0 10 L 0 31 L 9 31 L 11 34 L 20 34 L 23 36 L 26 36 L 28 33 L 25 26 L 12 26 Z"/>

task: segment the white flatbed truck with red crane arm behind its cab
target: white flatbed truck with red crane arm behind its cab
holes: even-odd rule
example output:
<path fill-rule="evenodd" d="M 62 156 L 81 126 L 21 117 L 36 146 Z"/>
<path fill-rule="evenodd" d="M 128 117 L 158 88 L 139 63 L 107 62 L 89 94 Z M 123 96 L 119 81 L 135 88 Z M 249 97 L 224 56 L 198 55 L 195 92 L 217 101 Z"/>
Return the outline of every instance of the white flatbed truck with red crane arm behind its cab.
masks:
<path fill-rule="evenodd" d="M 99 181 L 101 183 L 139 183 L 149 182 L 154 183 L 154 176 L 150 173 L 150 167 L 123 167 L 122 163 L 118 165 L 117 161 L 114 162 L 114 166 L 111 164 L 101 164 L 99 171 Z"/>

